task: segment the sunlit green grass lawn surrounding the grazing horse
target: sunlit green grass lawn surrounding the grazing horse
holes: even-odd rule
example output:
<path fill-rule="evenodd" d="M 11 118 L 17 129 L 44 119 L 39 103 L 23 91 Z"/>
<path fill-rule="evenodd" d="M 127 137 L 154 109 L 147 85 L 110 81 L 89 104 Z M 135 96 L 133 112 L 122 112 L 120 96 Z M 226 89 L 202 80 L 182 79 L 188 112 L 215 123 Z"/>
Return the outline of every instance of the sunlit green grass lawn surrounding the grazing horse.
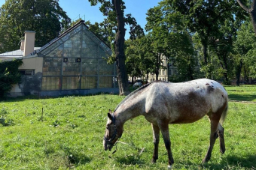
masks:
<path fill-rule="evenodd" d="M 255 86 L 225 88 L 231 100 L 255 101 Z M 5 126 L 0 124 L 0 169 L 166 169 L 162 138 L 159 160 L 150 162 L 152 130 L 143 117 L 126 122 L 120 139 L 126 144 L 119 143 L 115 154 L 104 151 L 108 109 L 114 109 L 123 98 L 102 94 L 0 103 L 5 118 Z M 169 125 L 173 169 L 256 169 L 255 124 L 256 103 L 230 102 L 224 123 L 227 151 L 220 154 L 217 140 L 206 164 L 201 161 L 209 146 L 208 118 Z"/>

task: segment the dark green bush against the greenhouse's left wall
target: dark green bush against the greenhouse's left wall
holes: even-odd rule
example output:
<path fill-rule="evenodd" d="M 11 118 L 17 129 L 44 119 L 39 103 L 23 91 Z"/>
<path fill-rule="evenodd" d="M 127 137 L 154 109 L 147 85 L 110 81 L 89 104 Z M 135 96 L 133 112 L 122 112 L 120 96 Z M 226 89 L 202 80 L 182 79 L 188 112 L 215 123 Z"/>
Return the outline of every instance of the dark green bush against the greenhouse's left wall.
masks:
<path fill-rule="evenodd" d="M 18 68 L 21 64 L 23 64 L 22 60 L 0 61 L 0 98 L 11 91 L 12 85 L 20 82 Z"/>

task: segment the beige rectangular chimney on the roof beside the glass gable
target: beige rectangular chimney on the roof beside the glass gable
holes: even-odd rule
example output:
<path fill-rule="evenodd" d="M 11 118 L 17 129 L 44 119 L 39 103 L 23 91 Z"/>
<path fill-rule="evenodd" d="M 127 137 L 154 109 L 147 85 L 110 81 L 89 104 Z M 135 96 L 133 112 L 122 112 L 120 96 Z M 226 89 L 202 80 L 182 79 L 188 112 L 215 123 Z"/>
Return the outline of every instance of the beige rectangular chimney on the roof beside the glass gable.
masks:
<path fill-rule="evenodd" d="M 29 55 L 34 51 L 35 31 L 25 31 L 24 52 L 23 56 Z"/>

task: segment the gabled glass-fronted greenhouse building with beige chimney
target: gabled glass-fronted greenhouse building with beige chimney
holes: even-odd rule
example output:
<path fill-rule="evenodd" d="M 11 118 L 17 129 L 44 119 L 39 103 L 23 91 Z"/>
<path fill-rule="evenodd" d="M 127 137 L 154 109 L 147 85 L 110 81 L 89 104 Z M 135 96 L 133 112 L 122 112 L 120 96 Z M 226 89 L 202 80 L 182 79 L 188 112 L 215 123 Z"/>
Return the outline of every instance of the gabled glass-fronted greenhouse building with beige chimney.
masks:
<path fill-rule="evenodd" d="M 35 31 L 26 31 L 19 50 L 0 54 L 0 59 L 22 59 L 22 82 L 14 85 L 11 96 L 35 94 L 59 96 L 72 94 L 117 93 L 115 64 L 104 58 L 111 49 L 78 22 L 41 48 L 34 47 Z"/>

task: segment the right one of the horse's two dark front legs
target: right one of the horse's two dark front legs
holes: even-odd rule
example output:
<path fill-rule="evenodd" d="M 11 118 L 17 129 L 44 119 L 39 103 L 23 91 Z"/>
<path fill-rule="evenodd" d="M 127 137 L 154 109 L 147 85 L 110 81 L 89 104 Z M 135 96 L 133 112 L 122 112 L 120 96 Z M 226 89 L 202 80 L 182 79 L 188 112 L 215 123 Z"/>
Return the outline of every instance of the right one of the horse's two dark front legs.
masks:
<path fill-rule="evenodd" d="M 168 163 L 169 166 L 171 167 L 172 164 L 174 163 L 173 157 L 172 157 L 172 150 L 171 150 L 171 141 L 169 139 L 169 124 L 163 124 L 160 126 L 161 133 L 163 135 L 163 141 L 164 144 L 166 145 L 166 150 L 168 154 Z"/>

